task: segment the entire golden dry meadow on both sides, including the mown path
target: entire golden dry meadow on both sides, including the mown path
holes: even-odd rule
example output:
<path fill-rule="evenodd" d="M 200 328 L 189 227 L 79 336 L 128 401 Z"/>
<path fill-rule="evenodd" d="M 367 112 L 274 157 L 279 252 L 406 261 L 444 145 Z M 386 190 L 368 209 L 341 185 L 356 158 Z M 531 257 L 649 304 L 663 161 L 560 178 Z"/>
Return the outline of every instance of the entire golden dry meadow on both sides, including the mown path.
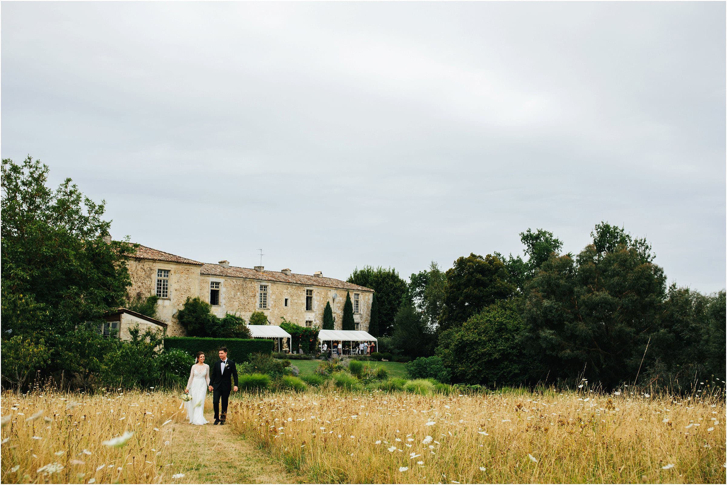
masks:
<path fill-rule="evenodd" d="M 726 478 L 721 399 L 517 390 L 420 396 L 326 388 L 238 396 L 225 427 L 184 424 L 177 396 L 153 390 L 4 394 L 0 404 L 3 483 Z M 113 446 L 122 436 L 129 436 L 125 444 Z M 211 442 L 230 446 L 218 446 L 211 456 L 205 452 Z"/>

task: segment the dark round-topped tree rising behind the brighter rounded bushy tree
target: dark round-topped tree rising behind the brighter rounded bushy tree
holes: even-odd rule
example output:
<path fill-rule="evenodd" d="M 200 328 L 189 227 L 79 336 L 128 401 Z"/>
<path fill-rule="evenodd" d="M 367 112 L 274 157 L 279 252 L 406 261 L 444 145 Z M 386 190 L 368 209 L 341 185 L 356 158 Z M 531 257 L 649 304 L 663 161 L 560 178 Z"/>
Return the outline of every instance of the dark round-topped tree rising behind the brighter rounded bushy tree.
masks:
<path fill-rule="evenodd" d="M 491 254 L 457 258 L 446 277 L 441 330 L 461 325 L 486 306 L 515 293 L 515 286 L 507 282 L 505 264 Z"/>

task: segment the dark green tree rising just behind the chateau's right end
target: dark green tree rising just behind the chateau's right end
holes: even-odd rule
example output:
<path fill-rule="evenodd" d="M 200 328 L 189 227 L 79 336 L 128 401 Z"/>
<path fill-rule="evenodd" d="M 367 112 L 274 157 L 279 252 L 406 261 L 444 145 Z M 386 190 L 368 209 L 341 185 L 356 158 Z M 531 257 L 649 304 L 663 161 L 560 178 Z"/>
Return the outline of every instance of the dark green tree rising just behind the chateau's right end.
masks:
<path fill-rule="evenodd" d="M 399 309 L 401 298 L 406 295 L 406 281 L 399 277 L 393 268 L 374 268 L 364 266 L 354 269 L 348 282 L 365 286 L 376 292 L 378 309 L 379 335 L 391 335 L 394 317 Z"/>

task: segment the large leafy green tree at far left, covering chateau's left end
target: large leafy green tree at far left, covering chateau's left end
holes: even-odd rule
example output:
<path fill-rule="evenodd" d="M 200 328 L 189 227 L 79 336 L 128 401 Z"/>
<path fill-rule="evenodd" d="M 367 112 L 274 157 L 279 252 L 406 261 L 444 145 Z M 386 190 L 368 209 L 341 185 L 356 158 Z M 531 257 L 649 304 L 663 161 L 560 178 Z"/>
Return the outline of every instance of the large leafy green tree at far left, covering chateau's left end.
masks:
<path fill-rule="evenodd" d="M 124 301 L 131 283 L 126 257 L 135 248 L 109 240 L 103 201 L 84 197 L 71 179 L 47 187 L 48 171 L 31 157 L 2 160 L 1 336 L 3 347 L 16 336 L 33 346 L 43 342 L 47 354 L 31 362 L 41 378 L 60 380 L 78 362 L 95 361 L 71 349 L 103 345 L 90 331 Z M 4 351 L 3 367 L 15 365 L 11 359 Z"/>

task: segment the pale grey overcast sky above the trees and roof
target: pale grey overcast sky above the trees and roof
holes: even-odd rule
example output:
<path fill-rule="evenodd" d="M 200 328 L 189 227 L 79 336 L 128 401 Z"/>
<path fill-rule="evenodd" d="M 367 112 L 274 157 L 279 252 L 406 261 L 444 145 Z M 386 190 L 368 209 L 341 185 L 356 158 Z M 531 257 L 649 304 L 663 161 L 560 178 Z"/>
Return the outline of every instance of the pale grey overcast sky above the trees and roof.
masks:
<path fill-rule="evenodd" d="M 345 280 L 544 228 L 725 287 L 725 4 L 1 4 L 1 152 L 115 238 Z"/>

